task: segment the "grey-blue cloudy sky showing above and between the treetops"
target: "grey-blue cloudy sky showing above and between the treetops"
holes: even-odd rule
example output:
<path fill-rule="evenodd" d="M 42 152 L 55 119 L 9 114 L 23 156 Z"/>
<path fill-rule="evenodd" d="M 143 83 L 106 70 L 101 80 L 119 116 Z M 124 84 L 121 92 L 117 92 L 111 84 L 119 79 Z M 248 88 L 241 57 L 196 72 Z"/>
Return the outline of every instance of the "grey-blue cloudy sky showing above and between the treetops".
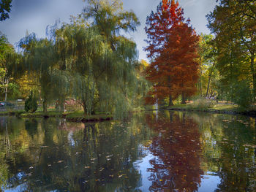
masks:
<path fill-rule="evenodd" d="M 140 26 L 134 33 L 127 34 L 137 43 L 139 59 L 146 58 L 143 47 L 147 44 L 144 31 L 146 17 L 157 9 L 160 0 L 123 0 L 125 10 L 133 10 L 140 20 Z M 206 15 L 214 10 L 216 0 L 178 0 L 184 8 L 185 18 L 190 18 L 192 26 L 198 34 L 209 34 L 206 27 Z M 0 22 L 0 31 L 10 43 L 15 45 L 25 37 L 26 31 L 34 32 L 37 37 L 45 37 L 45 29 L 56 20 L 69 23 L 70 15 L 78 15 L 85 2 L 82 0 L 12 0 L 10 19 Z"/>

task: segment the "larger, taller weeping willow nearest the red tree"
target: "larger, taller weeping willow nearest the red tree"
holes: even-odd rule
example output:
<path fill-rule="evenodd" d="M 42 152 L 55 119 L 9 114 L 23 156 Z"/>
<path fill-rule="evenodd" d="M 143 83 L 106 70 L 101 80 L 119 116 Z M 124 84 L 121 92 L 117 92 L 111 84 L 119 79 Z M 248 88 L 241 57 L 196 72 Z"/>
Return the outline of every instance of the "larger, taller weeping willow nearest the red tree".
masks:
<path fill-rule="evenodd" d="M 89 1 L 79 18 L 56 31 L 62 69 L 71 74 L 72 95 L 86 114 L 101 110 L 124 116 L 136 85 L 146 83 L 135 70 L 135 42 L 120 35 L 138 25 L 138 18 L 124 12 L 120 1 Z"/>

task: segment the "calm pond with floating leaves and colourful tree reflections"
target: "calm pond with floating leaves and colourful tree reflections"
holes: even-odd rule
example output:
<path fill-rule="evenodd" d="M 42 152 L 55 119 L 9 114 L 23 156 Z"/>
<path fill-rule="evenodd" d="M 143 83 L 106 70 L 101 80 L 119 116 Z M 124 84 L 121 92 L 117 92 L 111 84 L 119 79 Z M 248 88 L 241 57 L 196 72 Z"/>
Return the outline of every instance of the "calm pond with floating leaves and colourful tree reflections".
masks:
<path fill-rule="evenodd" d="M 256 191 L 255 155 L 244 116 L 0 117 L 0 191 Z"/>

